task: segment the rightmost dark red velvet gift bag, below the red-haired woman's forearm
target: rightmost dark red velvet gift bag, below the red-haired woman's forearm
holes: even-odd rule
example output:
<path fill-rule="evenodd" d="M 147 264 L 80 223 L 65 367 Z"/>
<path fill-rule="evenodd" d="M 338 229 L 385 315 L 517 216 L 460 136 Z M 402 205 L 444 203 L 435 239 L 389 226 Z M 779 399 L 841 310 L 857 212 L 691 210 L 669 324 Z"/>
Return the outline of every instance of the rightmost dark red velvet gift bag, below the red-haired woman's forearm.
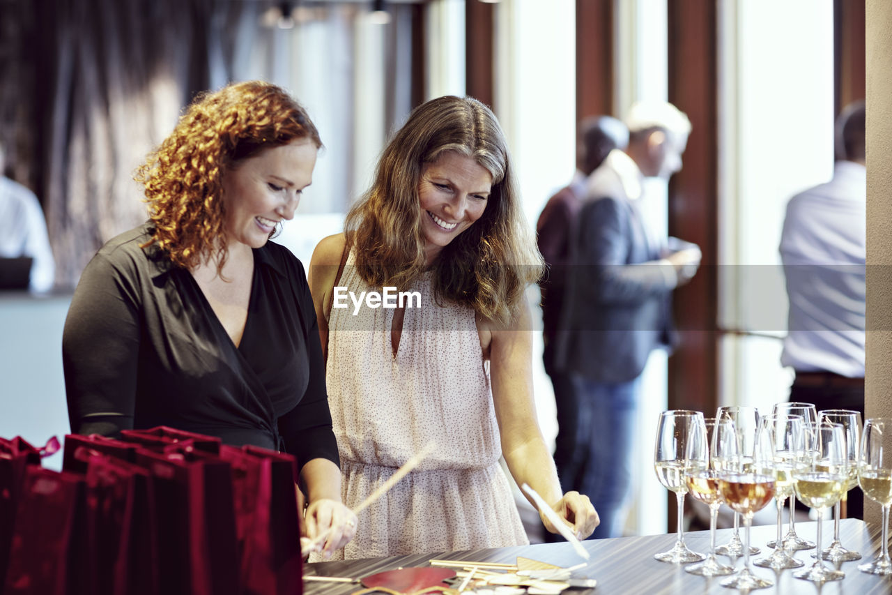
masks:
<path fill-rule="evenodd" d="M 242 592 L 299 595 L 301 542 L 294 458 L 263 448 L 223 446 L 233 473 Z"/>

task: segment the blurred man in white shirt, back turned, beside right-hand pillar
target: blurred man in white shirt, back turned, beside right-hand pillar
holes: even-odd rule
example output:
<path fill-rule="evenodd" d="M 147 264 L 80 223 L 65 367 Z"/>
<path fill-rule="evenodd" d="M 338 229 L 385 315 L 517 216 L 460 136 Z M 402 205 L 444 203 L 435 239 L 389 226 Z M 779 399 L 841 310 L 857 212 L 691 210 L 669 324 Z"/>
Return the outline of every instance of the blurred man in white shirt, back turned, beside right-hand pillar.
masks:
<path fill-rule="evenodd" d="M 792 197 L 780 257 L 789 297 L 780 362 L 796 378 L 790 401 L 864 413 L 865 221 L 864 102 L 839 114 L 833 178 Z M 848 512 L 861 516 L 860 498 Z"/>

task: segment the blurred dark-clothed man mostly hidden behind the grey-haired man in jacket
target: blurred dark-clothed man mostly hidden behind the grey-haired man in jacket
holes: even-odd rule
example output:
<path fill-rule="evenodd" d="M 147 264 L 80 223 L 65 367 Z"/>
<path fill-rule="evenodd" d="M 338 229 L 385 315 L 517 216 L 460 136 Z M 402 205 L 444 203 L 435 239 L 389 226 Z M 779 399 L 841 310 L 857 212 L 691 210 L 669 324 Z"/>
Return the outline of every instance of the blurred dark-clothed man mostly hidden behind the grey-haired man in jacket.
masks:
<path fill-rule="evenodd" d="M 592 116 L 580 122 L 577 134 L 576 172 L 573 180 L 549 198 L 536 224 L 539 250 L 549 265 L 540 281 L 542 306 L 542 362 L 554 387 L 558 414 L 555 466 L 564 491 L 582 489 L 582 471 L 588 456 L 588 432 L 580 432 L 576 416 L 581 408 L 568 373 L 555 362 L 558 321 L 564 309 L 570 245 L 585 198 L 586 181 L 615 148 L 629 143 L 625 124 L 610 116 Z M 584 492 L 582 492 L 584 493 Z M 550 536 L 546 535 L 546 539 Z M 559 537 L 559 536 L 558 536 Z"/>

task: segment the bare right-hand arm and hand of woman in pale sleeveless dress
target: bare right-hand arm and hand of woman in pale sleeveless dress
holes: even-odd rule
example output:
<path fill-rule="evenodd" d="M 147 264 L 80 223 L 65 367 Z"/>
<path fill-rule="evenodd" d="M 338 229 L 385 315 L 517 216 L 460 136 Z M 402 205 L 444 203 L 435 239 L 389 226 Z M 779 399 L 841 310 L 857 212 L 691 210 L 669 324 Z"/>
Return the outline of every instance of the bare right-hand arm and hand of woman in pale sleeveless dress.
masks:
<path fill-rule="evenodd" d="M 598 513 L 587 496 L 561 492 L 554 460 L 536 420 L 530 307 L 524 300 L 507 327 L 488 326 L 492 400 L 508 470 L 518 485 L 529 484 L 584 539 L 598 526 Z M 549 532 L 558 531 L 541 513 L 540 517 Z"/>

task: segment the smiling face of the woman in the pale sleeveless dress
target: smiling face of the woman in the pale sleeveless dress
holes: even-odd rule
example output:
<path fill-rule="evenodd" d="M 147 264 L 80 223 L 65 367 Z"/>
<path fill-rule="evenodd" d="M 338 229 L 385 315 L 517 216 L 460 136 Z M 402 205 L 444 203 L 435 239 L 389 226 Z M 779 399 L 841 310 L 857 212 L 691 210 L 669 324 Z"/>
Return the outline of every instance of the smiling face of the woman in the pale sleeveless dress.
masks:
<path fill-rule="evenodd" d="M 444 151 L 436 161 L 422 166 L 418 197 L 427 264 L 480 219 L 491 188 L 491 173 L 455 151 Z"/>

